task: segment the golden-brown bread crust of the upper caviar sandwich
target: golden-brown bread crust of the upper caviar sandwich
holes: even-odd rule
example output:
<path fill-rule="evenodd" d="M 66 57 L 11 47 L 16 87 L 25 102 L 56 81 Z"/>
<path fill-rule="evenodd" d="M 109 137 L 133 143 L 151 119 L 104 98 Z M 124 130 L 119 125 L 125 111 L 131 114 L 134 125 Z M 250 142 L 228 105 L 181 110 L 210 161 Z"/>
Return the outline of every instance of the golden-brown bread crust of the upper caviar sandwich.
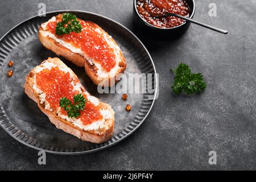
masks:
<path fill-rule="evenodd" d="M 107 32 L 105 32 L 100 26 L 98 26 L 96 23 L 93 23 L 93 26 L 95 28 L 99 28 L 102 32 L 108 35 Z M 38 32 L 38 38 L 42 45 L 46 47 L 47 49 L 51 50 L 52 52 L 55 52 L 56 55 L 60 55 L 65 57 L 65 59 L 71 61 L 73 64 L 76 64 L 78 67 L 85 67 L 86 74 L 92 79 L 93 83 L 96 85 L 104 83 L 105 86 L 108 84 L 109 86 L 113 86 L 115 83 L 117 83 L 119 80 L 115 80 L 115 77 L 119 73 L 125 72 L 126 69 L 126 60 L 123 56 L 123 53 L 120 49 L 120 55 L 121 60 L 118 62 L 118 71 L 115 73 L 114 76 L 108 76 L 108 77 L 100 77 L 97 75 L 98 68 L 94 64 L 90 64 L 90 62 L 84 58 L 84 56 L 80 55 L 79 53 L 72 52 L 70 49 L 64 47 L 60 43 L 57 43 L 56 40 L 49 38 L 48 36 L 45 36 L 43 34 L 42 26 L 39 27 Z M 111 38 L 111 41 L 117 45 L 117 43 L 114 41 L 113 38 Z"/>

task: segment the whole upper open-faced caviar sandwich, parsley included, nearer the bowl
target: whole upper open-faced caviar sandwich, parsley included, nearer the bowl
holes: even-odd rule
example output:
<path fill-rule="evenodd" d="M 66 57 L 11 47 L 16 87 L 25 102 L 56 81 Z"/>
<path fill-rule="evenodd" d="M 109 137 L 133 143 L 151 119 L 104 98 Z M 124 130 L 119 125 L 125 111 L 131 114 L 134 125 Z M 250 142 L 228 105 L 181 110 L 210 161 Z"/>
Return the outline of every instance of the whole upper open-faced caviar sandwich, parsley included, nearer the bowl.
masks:
<path fill-rule="evenodd" d="M 43 23 L 39 27 L 39 40 L 57 55 L 85 67 L 96 85 L 112 86 L 115 76 L 126 69 L 125 57 L 112 36 L 97 24 L 70 13 L 53 16 Z"/>

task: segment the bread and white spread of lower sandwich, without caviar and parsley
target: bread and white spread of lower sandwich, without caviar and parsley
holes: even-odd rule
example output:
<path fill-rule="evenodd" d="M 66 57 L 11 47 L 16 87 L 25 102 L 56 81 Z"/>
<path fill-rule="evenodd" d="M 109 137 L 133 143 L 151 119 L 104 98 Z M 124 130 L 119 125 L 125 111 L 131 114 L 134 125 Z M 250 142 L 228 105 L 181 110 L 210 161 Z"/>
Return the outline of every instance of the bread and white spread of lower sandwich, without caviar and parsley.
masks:
<path fill-rule="evenodd" d="M 53 67 L 57 67 L 65 73 L 69 72 L 69 75 L 72 78 L 72 84 L 74 85 L 75 83 L 74 89 L 76 88 L 79 90 L 79 93 L 85 94 L 87 100 L 100 108 L 103 119 L 100 121 L 93 121 L 89 125 L 84 125 L 81 120 L 79 121 L 77 118 L 68 118 L 67 115 L 63 115 L 60 111 L 60 107 L 57 109 L 51 108 L 51 105 L 47 102 L 46 94 L 40 90 L 39 86 L 36 84 L 36 74 L 44 69 L 51 71 L 51 68 Z M 49 120 L 58 129 L 92 143 L 106 142 L 106 140 L 109 140 L 112 137 L 114 131 L 114 111 L 112 110 L 112 107 L 100 102 L 98 98 L 90 96 L 90 94 L 86 92 L 85 88 L 80 84 L 75 73 L 60 59 L 49 57 L 48 60 L 44 60 L 42 64 L 35 67 L 30 73 L 28 73 L 24 84 L 24 91 L 28 97 L 38 104 L 39 109 L 48 116 Z"/>

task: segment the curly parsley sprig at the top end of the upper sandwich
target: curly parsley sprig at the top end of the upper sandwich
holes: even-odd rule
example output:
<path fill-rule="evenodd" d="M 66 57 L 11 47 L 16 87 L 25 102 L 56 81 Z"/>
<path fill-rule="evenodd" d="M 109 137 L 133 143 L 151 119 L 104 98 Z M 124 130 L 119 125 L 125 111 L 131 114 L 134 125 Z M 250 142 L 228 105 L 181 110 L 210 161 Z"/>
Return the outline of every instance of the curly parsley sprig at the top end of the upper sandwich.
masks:
<path fill-rule="evenodd" d="M 76 15 L 71 13 L 64 13 L 62 15 L 62 21 L 56 25 L 56 34 L 64 35 L 70 34 L 71 32 L 79 33 L 82 31 L 82 26 L 77 20 Z"/>

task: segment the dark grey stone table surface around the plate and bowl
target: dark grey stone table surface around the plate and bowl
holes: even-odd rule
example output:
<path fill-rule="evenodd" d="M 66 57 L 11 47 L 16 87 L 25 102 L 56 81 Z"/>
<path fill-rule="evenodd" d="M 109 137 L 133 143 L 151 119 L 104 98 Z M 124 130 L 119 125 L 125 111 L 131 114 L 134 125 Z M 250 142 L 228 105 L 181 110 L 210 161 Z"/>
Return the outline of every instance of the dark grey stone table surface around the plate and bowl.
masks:
<path fill-rule="evenodd" d="M 0 36 L 38 14 L 43 1 L 1 1 Z M 141 127 L 122 142 L 93 154 L 47 154 L 38 164 L 33 150 L 0 129 L 0 169 L 256 169 L 256 1 L 215 0 L 217 16 L 208 15 L 212 0 L 196 0 L 194 18 L 225 28 L 228 35 L 193 25 L 176 40 L 143 43 L 159 73 L 159 98 Z M 107 16 L 138 35 L 132 0 L 46 1 L 46 10 L 84 10 Z M 181 61 L 202 72 L 204 93 L 175 96 L 170 89 Z M 217 164 L 209 165 L 209 151 Z"/>

